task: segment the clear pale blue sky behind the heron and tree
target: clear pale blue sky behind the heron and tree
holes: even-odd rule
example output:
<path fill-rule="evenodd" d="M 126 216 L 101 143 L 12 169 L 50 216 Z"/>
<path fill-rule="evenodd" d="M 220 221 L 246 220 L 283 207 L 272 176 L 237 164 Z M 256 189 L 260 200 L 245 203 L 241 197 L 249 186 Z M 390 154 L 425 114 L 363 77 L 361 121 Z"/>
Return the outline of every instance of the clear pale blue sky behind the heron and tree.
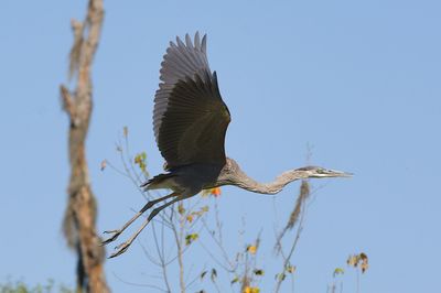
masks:
<path fill-rule="evenodd" d="M 220 3 L 222 2 L 222 3 Z M 123 177 L 100 172 L 117 161 L 123 126 L 132 149 L 161 171 L 151 127 L 159 66 L 175 35 L 208 34 L 233 121 L 226 148 L 260 181 L 312 163 L 354 172 L 324 185 L 309 208 L 293 258 L 295 292 L 325 292 L 335 267 L 364 251 L 370 270 L 362 292 L 434 292 L 441 262 L 441 2 L 372 1 L 106 1 L 94 64 L 88 161 L 99 203 L 98 229 L 116 228 L 143 204 Z M 2 1 L 0 9 L 0 282 L 47 278 L 74 284 L 75 256 L 64 243 L 67 118 L 58 85 L 66 80 L 71 18 L 86 1 Z M 292 209 L 298 184 L 277 196 L 279 217 Z M 219 199 L 228 241 L 262 229 L 260 263 L 273 271 L 272 198 L 227 187 Z M 140 240 L 148 243 L 148 232 Z M 194 257 L 207 265 L 206 256 Z M 208 258 L 209 260 L 209 258 Z M 157 273 L 139 243 L 107 261 L 115 292 Z M 273 274 L 265 276 L 263 292 Z M 149 279 L 151 281 L 151 279 Z M 354 292 L 348 270 L 345 291 Z"/>

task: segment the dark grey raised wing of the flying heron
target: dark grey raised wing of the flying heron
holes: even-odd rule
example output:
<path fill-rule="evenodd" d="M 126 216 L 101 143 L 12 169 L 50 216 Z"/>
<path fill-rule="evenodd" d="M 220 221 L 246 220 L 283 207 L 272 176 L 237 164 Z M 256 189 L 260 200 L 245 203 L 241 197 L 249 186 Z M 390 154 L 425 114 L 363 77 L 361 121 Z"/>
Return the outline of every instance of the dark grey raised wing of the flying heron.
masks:
<path fill-rule="evenodd" d="M 206 57 L 206 35 L 192 43 L 170 42 L 154 96 L 153 130 L 168 169 L 187 164 L 224 164 L 225 133 L 230 121 L 216 73 Z"/>

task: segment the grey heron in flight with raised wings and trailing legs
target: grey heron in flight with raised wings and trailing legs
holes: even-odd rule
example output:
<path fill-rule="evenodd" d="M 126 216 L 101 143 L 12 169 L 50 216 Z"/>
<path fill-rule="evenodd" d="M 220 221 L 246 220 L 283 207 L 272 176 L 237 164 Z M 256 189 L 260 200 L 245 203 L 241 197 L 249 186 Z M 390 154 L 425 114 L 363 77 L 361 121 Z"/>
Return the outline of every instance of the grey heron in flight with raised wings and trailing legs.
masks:
<path fill-rule="evenodd" d="M 246 175 L 233 159 L 225 155 L 225 133 L 230 121 L 229 110 L 217 86 L 216 72 L 209 69 L 206 56 L 206 35 L 189 34 L 185 43 L 176 37 L 170 42 L 161 63 L 159 89 L 154 96 L 153 130 L 159 150 L 165 159 L 168 173 L 159 174 L 141 185 L 146 191 L 168 188 L 173 193 L 147 203 L 112 236 L 109 243 L 147 209 L 172 198 L 152 210 L 143 225 L 110 256 L 125 252 L 141 230 L 165 207 L 192 197 L 203 189 L 235 185 L 261 194 L 277 194 L 288 183 L 301 178 L 347 177 L 352 174 L 306 166 L 290 170 L 273 182 L 261 184 Z"/>

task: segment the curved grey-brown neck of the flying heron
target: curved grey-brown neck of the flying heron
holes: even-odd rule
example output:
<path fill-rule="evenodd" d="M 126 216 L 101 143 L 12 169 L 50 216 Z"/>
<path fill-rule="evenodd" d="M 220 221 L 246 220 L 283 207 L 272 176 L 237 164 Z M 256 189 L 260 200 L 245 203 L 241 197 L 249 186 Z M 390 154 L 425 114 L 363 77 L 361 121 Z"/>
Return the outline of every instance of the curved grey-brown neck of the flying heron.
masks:
<path fill-rule="evenodd" d="M 302 171 L 289 170 L 277 176 L 276 180 L 272 182 L 259 183 L 254 178 L 249 177 L 241 170 L 236 170 L 235 173 L 236 176 L 233 176 L 234 178 L 232 180 L 233 185 L 260 194 L 277 194 L 281 189 L 283 189 L 283 187 L 290 182 L 308 177 L 308 175 Z"/>

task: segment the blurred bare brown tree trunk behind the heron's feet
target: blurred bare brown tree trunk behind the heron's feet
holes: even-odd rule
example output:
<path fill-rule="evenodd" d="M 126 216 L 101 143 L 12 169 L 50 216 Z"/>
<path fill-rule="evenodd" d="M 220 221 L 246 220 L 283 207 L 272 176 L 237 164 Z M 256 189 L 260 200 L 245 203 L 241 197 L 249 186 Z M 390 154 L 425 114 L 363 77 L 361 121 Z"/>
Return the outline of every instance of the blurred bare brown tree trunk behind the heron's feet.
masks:
<path fill-rule="evenodd" d="M 105 250 L 95 229 L 97 205 L 89 184 L 85 151 L 93 108 L 90 67 L 103 19 L 103 0 L 89 0 L 85 21 L 72 20 L 74 45 L 71 51 L 69 78 L 76 77 L 76 88 L 71 93 L 61 86 L 63 107 L 71 122 L 68 153 L 72 167 L 64 234 L 68 246 L 78 254 L 77 292 L 109 292 L 104 274 Z"/>

